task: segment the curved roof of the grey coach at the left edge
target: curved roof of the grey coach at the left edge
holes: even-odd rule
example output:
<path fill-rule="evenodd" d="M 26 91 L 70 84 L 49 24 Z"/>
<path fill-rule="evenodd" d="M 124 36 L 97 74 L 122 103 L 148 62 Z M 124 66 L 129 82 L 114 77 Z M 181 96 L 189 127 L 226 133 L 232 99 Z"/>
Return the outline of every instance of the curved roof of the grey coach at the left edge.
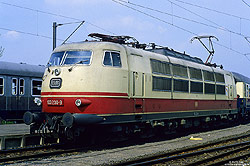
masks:
<path fill-rule="evenodd" d="M 0 75 L 42 77 L 44 70 L 45 67 L 40 65 L 0 61 Z"/>

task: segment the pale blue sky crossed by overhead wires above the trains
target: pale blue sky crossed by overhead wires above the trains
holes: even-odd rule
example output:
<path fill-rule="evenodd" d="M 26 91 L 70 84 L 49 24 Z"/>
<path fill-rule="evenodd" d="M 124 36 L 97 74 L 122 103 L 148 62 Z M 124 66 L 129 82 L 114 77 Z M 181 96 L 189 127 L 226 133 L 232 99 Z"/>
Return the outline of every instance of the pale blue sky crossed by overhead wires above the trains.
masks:
<path fill-rule="evenodd" d="M 52 24 L 59 46 L 89 33 L 128 35 L 206 61 L 195 36 L 212 35 L 212 63 L 250 77 L 249 0 L 0 0 L 0 61 L 46 65 L 52 52 Z M 208 44 L 204 40 L 205 44 Z"/>

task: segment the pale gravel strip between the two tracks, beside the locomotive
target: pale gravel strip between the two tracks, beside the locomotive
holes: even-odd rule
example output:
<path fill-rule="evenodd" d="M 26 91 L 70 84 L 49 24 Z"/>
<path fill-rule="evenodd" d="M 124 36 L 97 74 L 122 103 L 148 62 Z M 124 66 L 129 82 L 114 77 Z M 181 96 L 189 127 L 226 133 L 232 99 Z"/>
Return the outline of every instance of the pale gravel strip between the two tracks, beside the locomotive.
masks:
<path fill-rule="evenodd" d="M 68 165 L 112 165 L 120 161 L 132 160 L 142 156 L 152 156 L 168 151 L 201 145 L 207 142 L 222 140 L 227 137 L 243 135 L 250 133 L 250 124 L 240 125 L 236 127 L 213 130 L 208 132 L 190 134 L 181 138 L 145 143 L 142 145 L 133 145 L 128 147 L 108 149 L 101 151 L 90 151 L 81 154 L 70 156 L 51 157 L 36 161 L 26 161 L 12 165 L 53 165 L 53 166 L 68 166 Z M 190 139 L 193 138 L 193 139 Z M 196 139 L 198 138 L 198 139 Z"/>

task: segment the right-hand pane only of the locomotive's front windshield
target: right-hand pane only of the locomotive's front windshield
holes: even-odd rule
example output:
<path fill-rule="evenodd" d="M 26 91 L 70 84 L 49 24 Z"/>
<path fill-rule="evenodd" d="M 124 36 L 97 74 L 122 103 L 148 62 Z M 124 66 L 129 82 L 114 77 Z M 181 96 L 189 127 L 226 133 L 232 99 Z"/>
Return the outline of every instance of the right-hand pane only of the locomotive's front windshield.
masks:
<path fill-rule="evenodd" d="M 89 65 L 92 51 L 67 51 L 65 55 L 64 64 L 84 64 Z"/>

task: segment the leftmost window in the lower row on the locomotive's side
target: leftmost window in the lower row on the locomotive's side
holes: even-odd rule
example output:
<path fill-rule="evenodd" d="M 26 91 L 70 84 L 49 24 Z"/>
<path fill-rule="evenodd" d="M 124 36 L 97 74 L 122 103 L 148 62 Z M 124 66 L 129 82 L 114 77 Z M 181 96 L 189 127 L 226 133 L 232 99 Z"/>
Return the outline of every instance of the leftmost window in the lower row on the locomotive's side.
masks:
<path fill-rule="evenodd" d="M 171 82 L 170 78 L 153 76 L 153 90 L 171 91 Z"/>

